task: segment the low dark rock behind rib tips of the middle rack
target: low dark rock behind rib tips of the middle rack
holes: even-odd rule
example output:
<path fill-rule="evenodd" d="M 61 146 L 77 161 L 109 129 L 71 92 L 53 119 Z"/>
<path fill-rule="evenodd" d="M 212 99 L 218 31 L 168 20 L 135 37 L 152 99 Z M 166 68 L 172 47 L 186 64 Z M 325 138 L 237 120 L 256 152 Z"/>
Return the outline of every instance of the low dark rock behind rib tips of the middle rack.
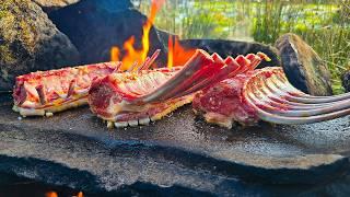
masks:
<path fill-rule="evenodd" d="M 238 55 L 261 51 L 268 55 L 271 58 L 271 61 L 264 61 L 259 65 L 258 68 L 280 66 L 280 61 L 277 56 L 278 50 L 275 47 L 259 43 L 223 39 L 183 39 L 180 40 L 180 45 L 185 48 L 201 48 L 209 51 L 210 54 L 218 53 L 222 57 L 236 57 Z"/>

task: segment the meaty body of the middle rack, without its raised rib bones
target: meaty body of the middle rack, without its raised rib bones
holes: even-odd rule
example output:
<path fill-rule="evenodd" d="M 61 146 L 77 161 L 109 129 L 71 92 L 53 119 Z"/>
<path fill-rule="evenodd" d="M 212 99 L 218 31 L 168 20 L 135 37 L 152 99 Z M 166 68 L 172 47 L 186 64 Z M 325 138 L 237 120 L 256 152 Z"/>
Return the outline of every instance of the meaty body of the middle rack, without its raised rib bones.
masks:
<path fill-rule="evenodd" d="M 156 90 L 178 70 L 179 68 L 114 73 L 96 80 L 90 89 L 90 108 L 98 117 L 115 123 L 117 127 L 148 125 L 150 120 L 161 119 L 177 107 L 190 103 L 192 96 L 148 104 L 132 101 Z"/>

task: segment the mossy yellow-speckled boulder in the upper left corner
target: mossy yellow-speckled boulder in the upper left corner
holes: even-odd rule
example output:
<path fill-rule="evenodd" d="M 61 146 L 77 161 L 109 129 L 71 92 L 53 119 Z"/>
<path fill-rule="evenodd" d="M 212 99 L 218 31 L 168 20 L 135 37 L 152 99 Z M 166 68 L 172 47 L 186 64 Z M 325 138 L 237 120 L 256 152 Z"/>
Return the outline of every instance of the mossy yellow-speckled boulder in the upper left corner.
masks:
<path fill-rule="evenodd" d="M 79 61 L 79 53 L 46 13 L 28 0 L 3 0 L 0 7 L 0 91 L 16 76 Z"/>

